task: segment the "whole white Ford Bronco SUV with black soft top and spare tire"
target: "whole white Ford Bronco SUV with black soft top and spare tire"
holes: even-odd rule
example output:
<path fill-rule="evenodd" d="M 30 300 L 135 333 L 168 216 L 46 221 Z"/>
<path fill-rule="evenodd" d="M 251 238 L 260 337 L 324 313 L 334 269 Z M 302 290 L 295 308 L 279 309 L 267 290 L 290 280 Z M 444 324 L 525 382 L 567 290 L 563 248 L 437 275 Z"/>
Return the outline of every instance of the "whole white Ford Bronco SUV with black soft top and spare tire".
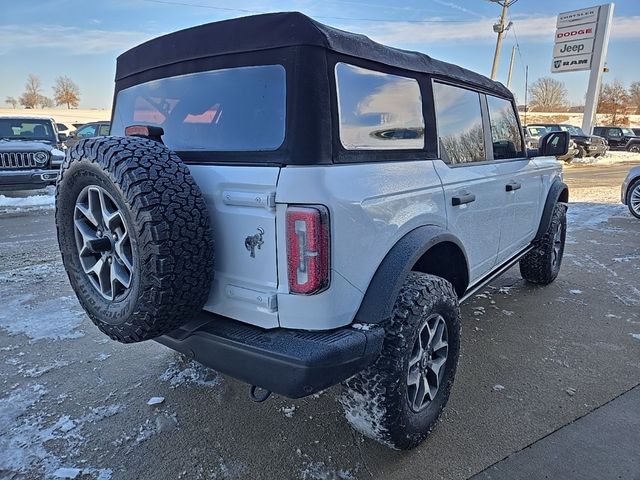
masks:
<path fill-rule="evenodd" d="M 111 132 L 69 150 L 56 199 L 100 330 L 293 398 L 342 382 L 394 448 L 447 402 L 459 302 L 560 268 L 566 132 L 527 152 L 501 84 L 299 13 L 124 53 Z"/>

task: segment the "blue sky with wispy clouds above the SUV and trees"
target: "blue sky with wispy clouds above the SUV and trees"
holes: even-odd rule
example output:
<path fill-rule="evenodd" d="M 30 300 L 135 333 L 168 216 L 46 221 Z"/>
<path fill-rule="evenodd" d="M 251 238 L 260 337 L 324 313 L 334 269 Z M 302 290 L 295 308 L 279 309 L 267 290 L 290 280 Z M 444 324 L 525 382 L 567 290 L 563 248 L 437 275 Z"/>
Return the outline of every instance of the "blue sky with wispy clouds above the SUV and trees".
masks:
<path fill-rule="evenodd" d="M 491 71 L 500 7 L 487 0 L 22 0 L 3 2 L 0 15 L 0 104 L 19 96 L 29 73 L 51 95 L 58 75 L 68 75 L 82 93 L 81 107 L 110 107 L 117 55 L 136 44 L 181 28 L 252 13 L 297 10 L 374 40 L 419 50 L 482 74 Z M 517 36 L 513 89 L 524 100 L 524 64 L 530 83 L 549 73 L 555 16 L 593 6 L 584 0 L 519 0 L 511 7 L 514 28 L 502 51 L 498 79 L 506 83 Z M 515 35 L 514 35 L 515 34 Z M 616 2 L 609 45 L 610 72 L 628 85 L 640 80 L 640 1 Z M 588 72 L 555 74 L 570 101 L 584 101 Z"/>

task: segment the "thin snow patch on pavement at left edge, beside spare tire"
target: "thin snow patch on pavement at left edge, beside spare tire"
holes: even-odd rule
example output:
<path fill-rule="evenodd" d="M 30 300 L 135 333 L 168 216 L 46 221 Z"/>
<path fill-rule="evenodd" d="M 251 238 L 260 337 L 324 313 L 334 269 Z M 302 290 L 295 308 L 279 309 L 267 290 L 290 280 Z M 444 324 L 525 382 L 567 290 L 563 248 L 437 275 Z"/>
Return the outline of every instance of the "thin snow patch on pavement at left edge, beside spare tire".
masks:
<path fill-rule="evenodd" d="M 84 336 L 76 330 L 84 320 L 84 312 L 75 297 L 39 301 L 35 295 L 27 294 L 3 303 L 0 327 L 9 335 L 26 335 L 30 343 Z"/>

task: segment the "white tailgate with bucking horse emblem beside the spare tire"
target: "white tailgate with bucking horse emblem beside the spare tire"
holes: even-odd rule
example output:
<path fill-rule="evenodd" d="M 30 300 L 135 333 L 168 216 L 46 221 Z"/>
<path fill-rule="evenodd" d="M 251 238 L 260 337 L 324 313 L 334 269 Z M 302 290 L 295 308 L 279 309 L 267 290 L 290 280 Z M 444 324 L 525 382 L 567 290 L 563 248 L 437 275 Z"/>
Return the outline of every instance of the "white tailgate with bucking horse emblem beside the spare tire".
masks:
<path fill-rule="evenodd" d="M 205 310 L 278 326 L 275 191 L 279 167 L 190 165 L 207 202 L 215 275 Z"/>

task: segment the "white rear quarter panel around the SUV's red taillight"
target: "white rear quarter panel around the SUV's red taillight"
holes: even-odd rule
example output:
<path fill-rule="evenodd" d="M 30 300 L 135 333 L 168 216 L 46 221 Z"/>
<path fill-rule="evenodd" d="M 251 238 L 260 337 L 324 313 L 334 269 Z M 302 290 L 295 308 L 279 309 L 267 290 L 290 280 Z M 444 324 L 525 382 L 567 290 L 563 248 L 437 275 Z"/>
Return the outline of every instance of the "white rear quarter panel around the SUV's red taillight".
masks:
<path fill-rule="evenodd" d="M 329 209 L 331 284 L 318 295 L 288 294 L 286 251 L 278 255 L 280 325 L 310 330 L 351 323 L 380 262 L 406 233 L 421 225 L 446 228 L 440 180 L 432 161 L 369 163 L 282 169 L 280 204 L 321 204 Z M 282 214 L 281 214 L 282 213 Z"/>

